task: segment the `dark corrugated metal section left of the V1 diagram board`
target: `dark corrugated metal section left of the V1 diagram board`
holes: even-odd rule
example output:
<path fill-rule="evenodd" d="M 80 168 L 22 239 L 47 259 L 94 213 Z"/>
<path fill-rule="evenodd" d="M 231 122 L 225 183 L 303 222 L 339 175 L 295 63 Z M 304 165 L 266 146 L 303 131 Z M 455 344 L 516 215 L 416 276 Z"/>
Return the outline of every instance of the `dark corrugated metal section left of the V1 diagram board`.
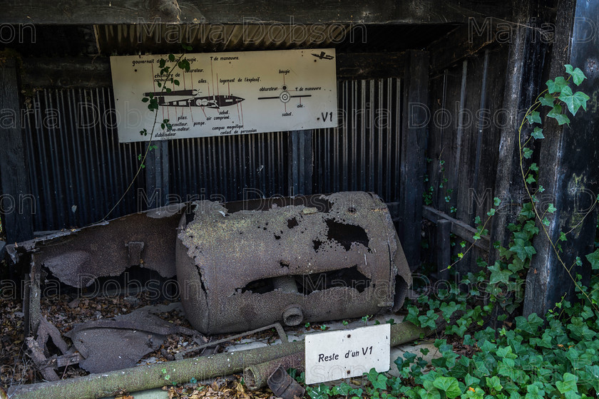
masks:
<path fill-rule="evenodd" d="M 133 180 L 143 143 L 118 143 L 106 112 L 112 102 L 108 88 L 41 90 L 31 99 L 23 128 L 35 231 L 98 222 Z M 143 175 L 111 217 L 137 211 L 138 187 L 145 187 Z"/>

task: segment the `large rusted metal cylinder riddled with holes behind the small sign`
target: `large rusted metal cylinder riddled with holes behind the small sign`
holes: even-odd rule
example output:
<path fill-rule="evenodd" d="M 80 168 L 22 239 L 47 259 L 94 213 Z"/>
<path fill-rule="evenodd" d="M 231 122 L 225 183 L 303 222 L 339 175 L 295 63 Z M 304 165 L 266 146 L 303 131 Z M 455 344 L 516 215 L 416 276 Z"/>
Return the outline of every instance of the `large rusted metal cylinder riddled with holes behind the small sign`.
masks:
<path fill-rule="evenodd" d="M 177 276 L 185 314 L 203 333 L 398 309 L 410 284 L 389 209 L 371 193 L 200 201 L 188 219 Z"/>

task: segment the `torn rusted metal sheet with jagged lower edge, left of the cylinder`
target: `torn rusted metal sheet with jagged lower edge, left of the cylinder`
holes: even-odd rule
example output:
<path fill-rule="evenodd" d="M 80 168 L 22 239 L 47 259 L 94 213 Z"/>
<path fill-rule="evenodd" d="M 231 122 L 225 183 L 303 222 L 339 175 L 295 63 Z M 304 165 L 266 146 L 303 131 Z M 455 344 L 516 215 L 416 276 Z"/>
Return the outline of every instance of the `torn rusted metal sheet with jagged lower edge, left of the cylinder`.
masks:
<path fill-rule="evenodd" d="M 160 276 L 175 276 L 175 238 L 187 204 L 129 214 L 110 222 L 58 232 L 6 247 L 14 263 L 24 254 L 60 281 L 76 288 L 98 277 L 119 276 L 140 265 Z"/>

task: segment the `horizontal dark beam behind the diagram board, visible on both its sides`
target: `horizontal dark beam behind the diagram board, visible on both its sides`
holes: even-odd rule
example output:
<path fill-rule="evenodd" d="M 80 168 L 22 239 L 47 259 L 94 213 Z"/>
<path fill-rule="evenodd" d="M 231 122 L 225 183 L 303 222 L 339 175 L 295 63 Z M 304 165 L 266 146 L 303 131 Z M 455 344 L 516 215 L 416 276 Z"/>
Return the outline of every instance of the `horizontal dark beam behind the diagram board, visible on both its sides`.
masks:
<path fill-rule="evenodd" d="M 337 78 L 399 78 L 404 61 L 405 53 L 338 53 Z M 112 86 L 108 57 L 24 58 L 21 72 L 21 83 L 29 89 Z"/>

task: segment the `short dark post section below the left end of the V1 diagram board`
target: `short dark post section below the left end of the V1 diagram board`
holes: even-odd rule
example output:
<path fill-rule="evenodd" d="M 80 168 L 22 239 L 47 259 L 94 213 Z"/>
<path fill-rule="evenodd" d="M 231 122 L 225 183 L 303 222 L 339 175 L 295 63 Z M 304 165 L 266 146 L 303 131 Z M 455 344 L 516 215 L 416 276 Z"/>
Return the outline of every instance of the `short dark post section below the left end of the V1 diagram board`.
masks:
<path fill-rule="evenodd" d="M 160 140 L 145 145 L 157 146 L 148 151 L 145 160 L 145 189 L 150 199 L 148 209 L 164 207 L 168 205 L 168 142 Z"/>

